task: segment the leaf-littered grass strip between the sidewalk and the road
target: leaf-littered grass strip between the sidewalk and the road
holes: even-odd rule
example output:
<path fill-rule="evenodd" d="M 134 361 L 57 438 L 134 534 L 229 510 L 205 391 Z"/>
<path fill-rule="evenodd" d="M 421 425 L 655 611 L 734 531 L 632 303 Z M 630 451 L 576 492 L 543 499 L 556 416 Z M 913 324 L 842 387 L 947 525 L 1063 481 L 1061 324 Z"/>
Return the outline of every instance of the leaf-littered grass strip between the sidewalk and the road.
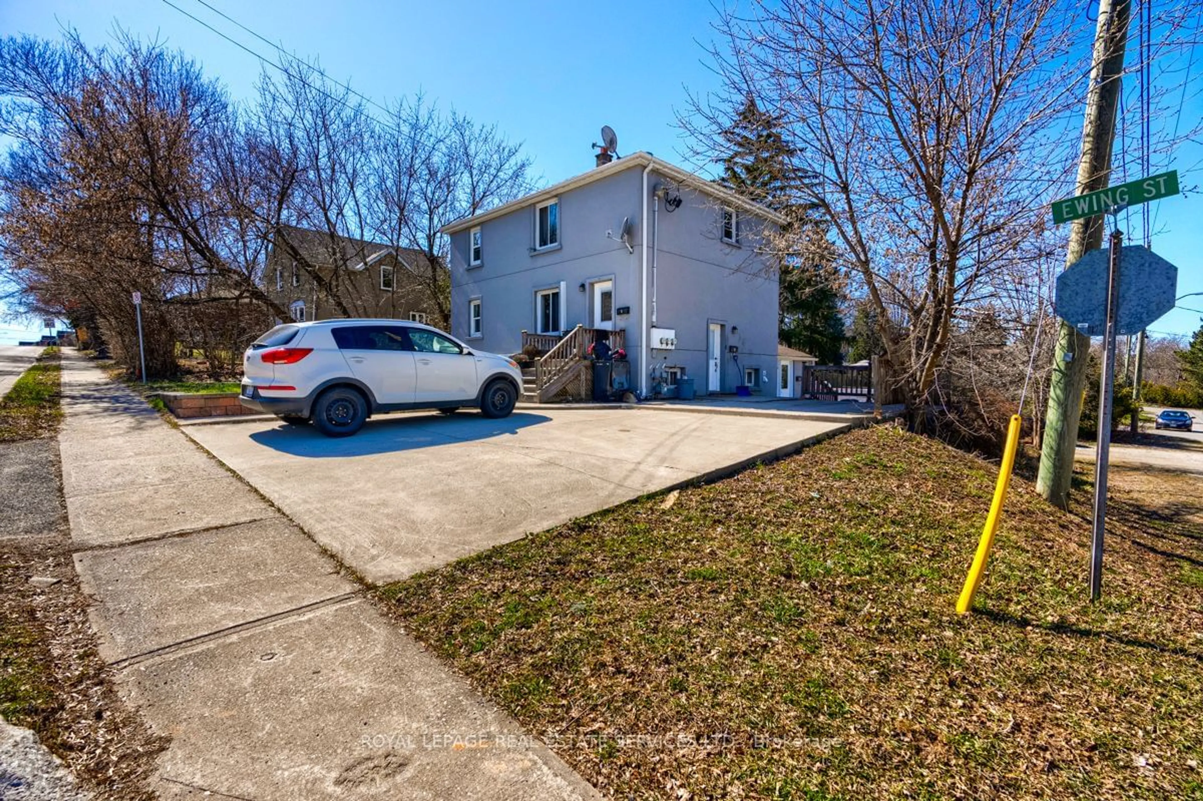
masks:
<path fill-rule="evenodd" d="M 13 468 L 0 471 L 0 492 L 20 498 L 13 515 L 40 521 L 0 521 L 8 523 L 0 535 L 0 716 L 32 729 L 95 797 L 144 801 L 154 797 L 147 779 L 164 741 L 118 696 L 96 653 L 71 556 L 58 449 L 29 443 L 54 437 L 60 420 L 58 355 L 49 354 L 0 404 L 0 463 Z M 37 446 L 32 456 L 23 443 Z M 48 474 L 38 482 L 45 486 L 20 483 L 29 475 L 16 469 L 22 458 L 53 463 L 38 471 Z M 59 583 L 40 588 L 32 576 Z"/>

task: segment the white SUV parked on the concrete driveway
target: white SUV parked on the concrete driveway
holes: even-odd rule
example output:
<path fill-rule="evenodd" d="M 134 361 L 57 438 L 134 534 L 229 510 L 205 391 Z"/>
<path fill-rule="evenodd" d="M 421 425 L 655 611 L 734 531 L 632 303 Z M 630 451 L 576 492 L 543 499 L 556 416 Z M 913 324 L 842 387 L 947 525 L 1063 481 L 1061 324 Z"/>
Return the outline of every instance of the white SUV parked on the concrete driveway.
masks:
<path fill-rule="evenodd" d="M 486 417 L 514 410 L 522 372 L 438 328 L 398 320 L 320 320 L 275 326 L 242 357 L 244 407 L 327 437 L 349 437 L 369 415 L 402 409 Z"/>

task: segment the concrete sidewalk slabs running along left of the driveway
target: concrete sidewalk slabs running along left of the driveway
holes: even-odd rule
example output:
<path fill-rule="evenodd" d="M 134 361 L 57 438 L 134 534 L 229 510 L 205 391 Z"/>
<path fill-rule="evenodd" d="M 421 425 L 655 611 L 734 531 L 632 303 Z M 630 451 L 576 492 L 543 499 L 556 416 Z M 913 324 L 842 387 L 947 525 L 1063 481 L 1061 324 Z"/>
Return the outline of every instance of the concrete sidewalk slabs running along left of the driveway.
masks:
<path fill-rule="evenodd" d="M 73 354 L 64 494 L 162 799 L 595 799 L 291 521 Z"/>

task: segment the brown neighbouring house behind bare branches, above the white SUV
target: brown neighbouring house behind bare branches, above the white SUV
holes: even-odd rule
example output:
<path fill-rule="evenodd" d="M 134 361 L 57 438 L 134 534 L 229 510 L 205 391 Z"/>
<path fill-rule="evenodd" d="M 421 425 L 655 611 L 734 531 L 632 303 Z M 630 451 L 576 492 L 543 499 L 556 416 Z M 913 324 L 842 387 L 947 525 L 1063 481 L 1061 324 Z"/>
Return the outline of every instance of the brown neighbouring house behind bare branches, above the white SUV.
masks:
<path fill-rule="evenodd" d="M 445 271 L 421 250 L 280 226 L 267 256 L 267 295 L 292 320 L 387 318 L 446 328 Z"/>

